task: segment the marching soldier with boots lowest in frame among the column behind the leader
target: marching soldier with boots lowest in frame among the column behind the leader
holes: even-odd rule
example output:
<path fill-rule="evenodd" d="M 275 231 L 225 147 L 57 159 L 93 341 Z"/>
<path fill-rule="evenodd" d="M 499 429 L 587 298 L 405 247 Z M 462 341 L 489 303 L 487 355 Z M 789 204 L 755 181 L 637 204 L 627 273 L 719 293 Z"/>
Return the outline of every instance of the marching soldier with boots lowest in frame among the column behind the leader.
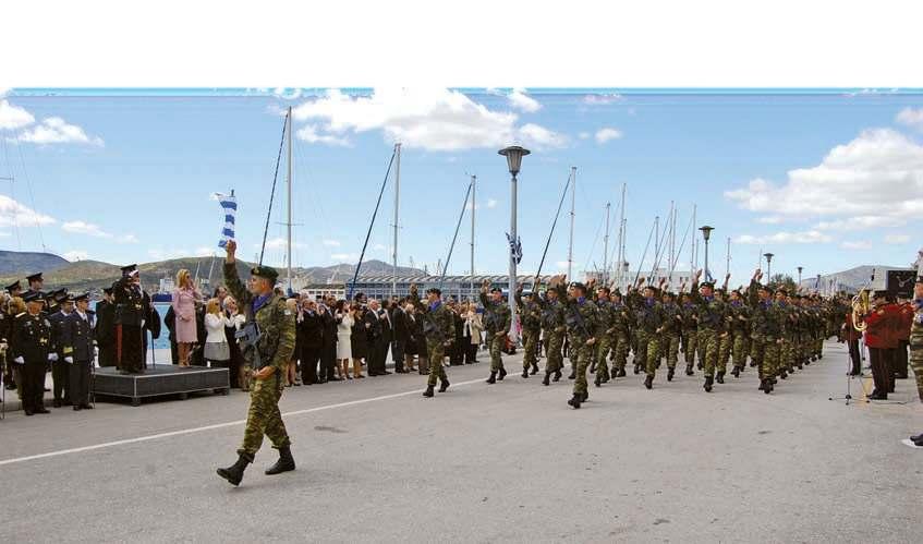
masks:
<path fill-rule="evenodd" d="M 571 353 L 576 362 L 576 377 L 573 384 L 573 397 L 568 404 L 574 409 L 586 402 L 590 392 L 586 388 L 586 370 L 596 356 L 596 338 L 598 336 L 598 310 L 596 304 L 586 298 L 586 286 L 573 283 L 568 292 L 563 288 L 564 276 L 555 276 L 548 285 L 549 289 L 558 291 L 558 298 L 564 304 L 564 323 L 571 342 Z"/>

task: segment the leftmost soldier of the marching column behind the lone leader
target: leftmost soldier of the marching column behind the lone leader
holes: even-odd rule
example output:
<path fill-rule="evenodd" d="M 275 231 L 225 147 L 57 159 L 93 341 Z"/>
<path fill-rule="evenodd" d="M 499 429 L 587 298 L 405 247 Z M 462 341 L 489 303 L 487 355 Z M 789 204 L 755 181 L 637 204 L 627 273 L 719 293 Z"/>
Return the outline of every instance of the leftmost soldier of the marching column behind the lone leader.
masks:
<path fill-rule="evenodd" d="M 456 337 L 456 322 L 452 311 L 442 304 L 442 291 L 432 288 L 426 291 L 428 305 L 423 305 L 416 292 L 416 283 L 410 286 L 410 302 L 416 309 L 416 315 L 423 319 L 423 335 L 426 337 L 426 354 L 429 361 L 429 378 L 426 382 L 424 397 L 433 397 L 436 380 L 439 380 L 439 392 L 449 388 L 449 378 L 442 362 L 446 350 L 451 347 Z"/>

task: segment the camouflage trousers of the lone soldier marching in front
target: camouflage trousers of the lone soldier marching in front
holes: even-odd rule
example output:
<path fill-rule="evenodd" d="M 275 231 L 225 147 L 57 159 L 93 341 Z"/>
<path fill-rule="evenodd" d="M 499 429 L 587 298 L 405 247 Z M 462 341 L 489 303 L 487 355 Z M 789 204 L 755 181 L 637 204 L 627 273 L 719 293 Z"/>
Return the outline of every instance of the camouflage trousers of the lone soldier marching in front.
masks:
<path fill-rule="evenodd" d="M 279 373 L 267 379 L 254 379 L 250 390 L 250 410 L 246 414 L 244 442 L 238 455 L 253 459 L 263 446 L 263 436 L 268 436 L 274 448 L 290 446 L 291 440 L 279 412 L 279 399 L 282 397 L 282 384 Z"/>

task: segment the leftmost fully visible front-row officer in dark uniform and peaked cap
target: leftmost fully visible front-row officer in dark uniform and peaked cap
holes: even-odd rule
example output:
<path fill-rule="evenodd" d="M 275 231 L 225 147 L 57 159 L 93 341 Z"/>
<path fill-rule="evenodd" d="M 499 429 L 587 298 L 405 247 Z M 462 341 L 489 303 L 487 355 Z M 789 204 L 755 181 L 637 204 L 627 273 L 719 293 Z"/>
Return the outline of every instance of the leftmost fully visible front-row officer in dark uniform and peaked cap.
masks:
<path fill-rule="evenodd" d="M 41 315 L 44 298 L 40 292 L 26 293 L 23 300 L 26 311 L 13 322 L 10 355 L 22 367 L 23 411 L 26 415 L 48 413 L 44 401 L 45 365 L 51 349 L 51 324 Z"/>

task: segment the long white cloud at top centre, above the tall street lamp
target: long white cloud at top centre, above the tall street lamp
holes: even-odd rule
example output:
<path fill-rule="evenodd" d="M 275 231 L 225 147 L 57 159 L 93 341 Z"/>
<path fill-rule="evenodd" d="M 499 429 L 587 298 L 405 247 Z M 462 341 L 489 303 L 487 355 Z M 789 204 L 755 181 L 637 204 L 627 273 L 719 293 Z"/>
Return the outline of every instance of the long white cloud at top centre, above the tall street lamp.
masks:
<path fill-rule="evenodd" d="M 513 112 L 494 111 L 458 90 L 376 89 L 348 96 L 331 89 L 294 109 L 299 121 L 323 123 L 318 137 L 381 131 L 408 148 L 453 152 L 497 149 L 512 142 L 537 148 L 560 147 L 567 138 L 536 124 L 518 125 Z"/>

